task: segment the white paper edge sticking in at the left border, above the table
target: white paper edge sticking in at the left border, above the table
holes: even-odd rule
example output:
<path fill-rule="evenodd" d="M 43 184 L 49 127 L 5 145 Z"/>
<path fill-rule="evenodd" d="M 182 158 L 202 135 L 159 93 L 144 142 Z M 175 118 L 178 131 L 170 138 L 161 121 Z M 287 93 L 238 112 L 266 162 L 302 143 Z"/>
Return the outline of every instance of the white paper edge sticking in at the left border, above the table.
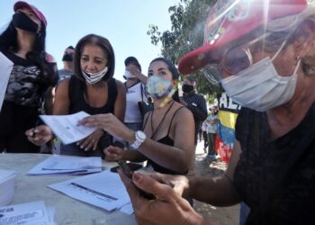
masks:
<path fill-rule="evenodd" d="M 4 95 L 13 67 L 14 63 L 0 52 L 0 112 L 2 103 L 4 103 Z"/>

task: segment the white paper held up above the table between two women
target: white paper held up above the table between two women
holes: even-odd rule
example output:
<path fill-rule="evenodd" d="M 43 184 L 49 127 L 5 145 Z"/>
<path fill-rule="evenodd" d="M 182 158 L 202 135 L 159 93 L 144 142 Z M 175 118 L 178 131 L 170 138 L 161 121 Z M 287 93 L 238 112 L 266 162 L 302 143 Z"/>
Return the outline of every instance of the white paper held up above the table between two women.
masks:
<path fill-rule="evenodd" d="M 40 115 L 40 119 L 49 126 L 52 132 L 65 145 L 85 139 L 96 128 L 77 125 L 77 122 L 89 116 L 86 112 L 76 112 L 70 115 Z"/>

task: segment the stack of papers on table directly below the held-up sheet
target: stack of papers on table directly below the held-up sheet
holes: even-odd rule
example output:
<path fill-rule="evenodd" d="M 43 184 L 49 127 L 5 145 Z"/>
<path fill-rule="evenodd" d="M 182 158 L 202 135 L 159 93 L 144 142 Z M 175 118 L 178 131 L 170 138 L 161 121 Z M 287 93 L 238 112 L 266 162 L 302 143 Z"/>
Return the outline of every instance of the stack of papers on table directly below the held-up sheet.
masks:
<path fill-rule="evenodd" d="M 52 155 L 31 168 L 27 175 L 83 175 L 102 172 L 102 169 L 101 157 Z"/>

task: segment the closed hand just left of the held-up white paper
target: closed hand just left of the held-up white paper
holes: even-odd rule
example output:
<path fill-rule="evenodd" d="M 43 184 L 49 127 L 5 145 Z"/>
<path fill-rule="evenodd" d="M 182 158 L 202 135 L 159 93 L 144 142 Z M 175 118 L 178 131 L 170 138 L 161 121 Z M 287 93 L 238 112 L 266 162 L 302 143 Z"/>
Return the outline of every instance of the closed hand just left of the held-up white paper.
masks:
<path fill-rule="evenodd" d="M 26 130 L 25 135 L 31 143 L 37 146 L 46 144 L 49 140 L 53 139 L 52 131 L 49 126 L 46 125 L 40 125 L 36 128 Z"/>

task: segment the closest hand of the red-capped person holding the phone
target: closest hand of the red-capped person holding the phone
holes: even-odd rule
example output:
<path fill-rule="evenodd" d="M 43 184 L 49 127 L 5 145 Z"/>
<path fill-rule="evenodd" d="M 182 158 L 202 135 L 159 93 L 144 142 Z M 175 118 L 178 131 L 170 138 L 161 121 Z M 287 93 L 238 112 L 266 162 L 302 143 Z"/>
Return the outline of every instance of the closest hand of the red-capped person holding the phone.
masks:
<path fill-rule="evenodd" d="M 127 188 L 136 219 L 139 225 L 193 225 L 205 223 L 196 211 L 180 194 L 175 193 L 168 184 L 162 184 L 150 175 L 134 173 L 132 181 L 118 171 L 123 184 Z M 140 188 L 156 196 L 155 200 L 148 200 L 139 193 Z"/>

